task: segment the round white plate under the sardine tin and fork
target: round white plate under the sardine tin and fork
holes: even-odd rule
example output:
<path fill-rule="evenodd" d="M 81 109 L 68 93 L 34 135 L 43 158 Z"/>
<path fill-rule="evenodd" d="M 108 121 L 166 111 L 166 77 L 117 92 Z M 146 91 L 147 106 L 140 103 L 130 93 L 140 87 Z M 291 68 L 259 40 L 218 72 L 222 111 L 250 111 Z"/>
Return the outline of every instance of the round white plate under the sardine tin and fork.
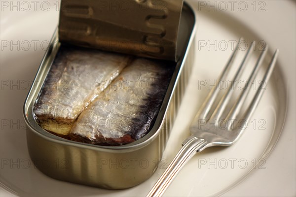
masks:
<path fill-rule="evenodd" d="M 163 172 L 163 167 L 167 166 L 165 161 L 171 161 L 181 147 L 190 121 L 208 93 L 207 86 L 199 85 L 204 82 L 208 85 L 208 80 L 214 83 L 231 53 L 232 40 L 241 35 L 246 39 L 266 41 L 271 51 L 280 49 L 275 72 L 252 116 L 253 122 L 249 123 L 237 144 L 208 149 L 196 155 L 185 165 L 165 196 L 295 196 L 294 2 L 223 1 L 223 4 L 211 1 L 212 5 L 216 4 L 216 11 L 215 7 L 206 4 L 208 1 L 189 1 L 196 9 L 198 20 L 196 61 L 164 152 L 165 160 L 148 181 L 121 191 L 57 181 L 34 167 L 27 150 L 22 106 L 44 54 L 43 49 L 57 26 L 59 13 L 57 1 L 38 1 L 36 11 L 31 1 L 26 1 L 29 4 L 14 1 L 16 7 L 11 7 L 11 2 L 1 1 L 3 11 L 0 16 L 1 196 L 145 196 Z M 247 8 L 244 7 L 246 4 Z M 28 5 L 31 8 L 25 11 Z M 15 43 L 17 46 L 12 45 Z M 224 48 L 225 43 L 227 48 Z M 254 167 L 254 162 L 261 158 L 260 169 L 258 165 Z"/>

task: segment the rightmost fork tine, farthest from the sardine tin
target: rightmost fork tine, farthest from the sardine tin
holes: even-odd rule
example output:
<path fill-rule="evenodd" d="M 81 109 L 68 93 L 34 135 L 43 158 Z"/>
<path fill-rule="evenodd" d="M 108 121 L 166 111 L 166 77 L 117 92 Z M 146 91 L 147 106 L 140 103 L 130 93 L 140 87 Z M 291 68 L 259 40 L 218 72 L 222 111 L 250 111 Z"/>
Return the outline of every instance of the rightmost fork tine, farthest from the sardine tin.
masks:
<path fill-rule="evenodd" d="M 263 79 L 262 79 L 262 82 L 260 83 L 259 89 L 257 90 L 257 92 L 256 92 L 256 94 L 255 94 L 255 96 L 254 96 L 251 104 L 249 105 L 249 107 L 248 107 L 248 109 L 247 109 L 247 111 L 246 111 L 246 113 L 244 115 L 244 120 L 246 122 L 249 121 L 252 113 L 256 109 L 256 107 L 257 107 L 257 105 L 258 105 L 258 103 L 259 103 L 259 101 L 260 101 L 260 99 L 262 97 L 263 91 L 265 90 L 265 89 L 263 89 L 263 86 L 265 84 L 267 84 L 267 82 L 268 82 L 268 80 L 269 80 L 269 78 L 270 78 L 270 76 L 272 74 L 272 71 L 274 69 L 274 66 L 275 66 L 275 63 L 276 63 L 276 59 L 278 57 L 278 54 L 279 54 L 279 49 L 277 49 L 274 52 L 274 54 L 272 56 L 272 59 L 271 59 L 271 61 L 269 63 L 269 66 L 268 66 L 268 68 L 267 68 L 267 70 L 265 72 L 265 75 L 264 75 Z"/>

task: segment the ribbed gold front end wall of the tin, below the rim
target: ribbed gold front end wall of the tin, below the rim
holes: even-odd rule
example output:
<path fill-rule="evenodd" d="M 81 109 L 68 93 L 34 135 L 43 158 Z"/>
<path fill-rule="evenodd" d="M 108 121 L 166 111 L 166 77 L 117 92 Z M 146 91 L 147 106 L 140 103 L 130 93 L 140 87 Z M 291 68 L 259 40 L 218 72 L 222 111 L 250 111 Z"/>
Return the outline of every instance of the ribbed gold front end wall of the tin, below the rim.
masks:
<path fill-rule="evenodd" d="M 129 188 L 147 180 L 162 152 L 160 135 L 145 148 L 118 153 L 48 141 L 32 131 L 27 132 L 27 140 L 31 159 L 44 174 L 107 189 Z"/>

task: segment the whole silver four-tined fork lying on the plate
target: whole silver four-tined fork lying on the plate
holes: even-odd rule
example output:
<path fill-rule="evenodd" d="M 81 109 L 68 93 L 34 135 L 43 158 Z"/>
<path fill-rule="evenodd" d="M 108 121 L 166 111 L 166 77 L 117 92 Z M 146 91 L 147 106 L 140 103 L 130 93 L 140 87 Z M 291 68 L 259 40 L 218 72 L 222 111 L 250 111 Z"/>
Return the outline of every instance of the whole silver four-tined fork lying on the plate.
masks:
<path fill-rule="evenodd" d="M 239 43 L 239 42 L 238 42 Z M 232 87 L 237 82 L 237 79 L 241 76 L 244 67 L 246 66 L 247 60 L 250 58 L 252 49 L 254 48 L 255 41 L 251 43 L 250 48 L 246 52 L 246 55 L 243 58 L 238 70 L 236 71 L 233 79 Z M 159 197 L 162 196 L 165 190 L 168 188 L 170 183 L 173 181 L 175 176 L 178 174 L 180 169 L 184 166 L 184 164 L 189 161 L 189 159 L 195 155 L 196 153 L 204 150 L 205 148 L 211 146 L 230 146 L 234 142 L 236 142 L 239 137 L 243 133 L 242 126 L 238 127 L 238 125 L 234 124 L 234 120 L 236 120 L 238 113 L 241 111 L 243 103 L 245 102 L 248 93 L 251 89 L 251 83 L 255 79 L 259 67 L 262 64 L 264 57 L 267 52 L 267 45 L 263 48 L 259 58 L 248 78 L 245 88 L 241 91 L 238 99 L 236 99 L 234 105 L 231 107 L 229 112 L 227 113 L 226 106 L 230 101 L 231 95 L 233 94 L 233 88 L 229 87 L 226 90 L 226 93 L 222 96 L 221 100 L 217 103 L 217 97 L 219 95 L 219 85 L 227 76 L 229 69 L 235 59 L 239 48 L 239 44 L 236 45 L 230 59 L 228 60 L 226 66 L 224 67 L 222 74 L 219 78 L 219 82 L 211 89 L 209 95 L 205 99 L 204 103 L 201 105 L 199 111 L 193 119 L 193 122 L 190 126 L 191 135 L 185 139 L 182 143 L 182 148 L 177 153 L 173 161 L 166 168 L 164 173 L 160 176 L 158 181 L 155 183 L 153 188 L 148 193 L 147 197 Z M 263 86 L 267 84 L 273 68 L 275 66 L 275 62 L 278 56 L 279 50 L 277 49 L 273 54 L 271 61 L 264 73 L 263 80 L 261 81 L 258 90 L 255 93 L 251 103 L 243 114 L 243 119 L 245 123 L 250 120 L 252 113 L 255 111 L 259 100 L 263 94 Z M 224 114 L 227 113 L 225 116 Z M 224 115 L 224 116 L 223 116 Z M 222 120 L 223 126 L 218 126 L 217 120 Z M 209 128 L 209 123 L 215 121 L 215 127 Z M 213 124 L 211 124 L 213 125 Z"/>

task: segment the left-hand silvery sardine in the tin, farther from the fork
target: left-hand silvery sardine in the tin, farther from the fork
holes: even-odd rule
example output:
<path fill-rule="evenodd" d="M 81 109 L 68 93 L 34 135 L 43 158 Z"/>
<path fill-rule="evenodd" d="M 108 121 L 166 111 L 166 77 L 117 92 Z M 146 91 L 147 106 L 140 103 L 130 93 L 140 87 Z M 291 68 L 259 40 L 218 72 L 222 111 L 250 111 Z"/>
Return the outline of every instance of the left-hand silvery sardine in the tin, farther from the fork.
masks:
<path fill-rule="evenodd" d="M 69 134 L 78 115 L 127 66 L 130 58 L 62 45 L 34 106 L 41 127 Z"/>

